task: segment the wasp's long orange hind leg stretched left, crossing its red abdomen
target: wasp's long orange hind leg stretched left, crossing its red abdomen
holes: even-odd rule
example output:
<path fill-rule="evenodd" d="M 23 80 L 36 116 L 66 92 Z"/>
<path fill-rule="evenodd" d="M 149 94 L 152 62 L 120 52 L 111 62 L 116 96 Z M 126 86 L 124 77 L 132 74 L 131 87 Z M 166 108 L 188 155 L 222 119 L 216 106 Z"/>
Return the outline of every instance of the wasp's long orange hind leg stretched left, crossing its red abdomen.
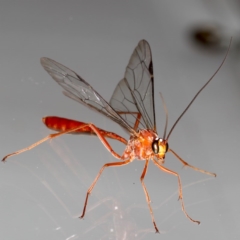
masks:
<path fill-rule="evenodd" d="M 49 140 L 49 139 L 53 139 L 53 138 L 56 138 L 56 137 L 60 137 L 61 135 L 63 134 L 67 134 L 67 133 L 71 133 L 71 132 L 74 132 L 78 129 L 81 129 L 81 128 L 84 128 L 84 127 L 90 127 L 94 133 L 99 137 L 99 139 L 101 140 L 101 142 L 103 143 L 103 145 L 107 148 L 107 150 L 115 157 L 115 158 L 118 158 L 118 159 L 121 159 L 121 156 L 118 155 L 113 149 L 112 147 L 110 146 L 110 144 L 107 142 L 107 140 L 104 138 L 104 136 L 102 136 L 101 132 L 99 131 L 99 129 L 93 125 L 92 123 L 88 123 L 88 124 L 85 124 L 85 125 L 81 125 L 81 126 L 78 126 L 76 128 L 72 128 L 72 129 L 68 129 L 66 131 L 63 131 L 63 132 L 59 132 L 59 133 L 53 133 L 53 134 L 49 134 L 47 137 L 41 139 L 40 141 L 38 142 L 35 142 L 34 144 L 26 147 L 26 148 L 23 148 L 21 150 L 18 150 L 16 152 L 13 152 L 13 153 L 10 153 L 8 155 L 6 155 L 2 161 L 6 161 L 7 158 L 13 156 L 13 155 L 17 155 L 17 154 L 20 154 L 20 153 L 23 153 L 23 152 L 26 152 L 28 150 L 31 150 L 32 148 L 35 148 L 36 146 L 38 146 L 39 144 Z"/>

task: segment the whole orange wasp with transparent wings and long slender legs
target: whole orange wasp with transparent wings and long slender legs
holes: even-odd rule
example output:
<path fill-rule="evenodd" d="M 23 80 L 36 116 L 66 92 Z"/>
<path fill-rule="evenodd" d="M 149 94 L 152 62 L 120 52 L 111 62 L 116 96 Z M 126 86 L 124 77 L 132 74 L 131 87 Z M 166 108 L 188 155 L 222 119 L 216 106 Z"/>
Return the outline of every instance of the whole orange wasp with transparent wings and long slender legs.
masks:
<path fill-rule="evenodd" d="M 229 49 L 228 49 L 229 51 Z M 227 52 L 228 54 L 228 52 Z M 156 232 L 159 232 L 151 207 L 151 200 L 148 194 L 147 188 L 144 184 L 144 177 L 147 173 L 149 161 L 153 163 L 162 171 L 175 175 L 178 178 L 178 190 L 179 199 L 181 201 L 182 210 L 186 217 L 192 222 L 200 223 L 197 220 L 192 219 L 186 212 L 183 203 L 182 185 L 180 176 L 177 172 L 174 172 L 164 166 L 164 159 L 166 152 L 171 152 L 177 157 L 184 166 L 188 166 L 196 171 L 209 174 L 216 177 L 215 173 L 207 172 L 205 170 L 191 166 L 185 162 L 181 157 L 177 155 L 171 148 L 169 148 L 168 139 L 175 128 L 176 124 L 191 106 L 193 101 L 199 95 L 199 93 L 207 86 L 207 84 L 217 74 L 222 67 L 227 54 L 225 55 L 221 65 L 213 76 L 203 85 L 203 87 L 197 92 L 186 109 L 178 117 L 176 122 L 167 134 L 168 124 L 168 112 L 162 95 L 160 94 L 164 110 L 166 112 L 166 123 L 164 128 L 163 137 L 160 138 L 156 130 L 155 120 L 155 108 L 154 108 L 154 78 L 153 78 L 153 63 L 151 49 L 147 41 L 141 40 L 135 48 L 130 61 L 126 67 L 124 78 L 118 83 L 110 102 L 106 102 L 101 95 L 95 91 L 86 81 L 84 81 L 78 74 L 62 64 L 55 62 L 49 58 L 41 58 L 41 64 L 43 68 L 50 74 L 50 76 L 64 88 L 64 95 L 78 101 L 103 115 L 111 118 L 113 121 L 121 125 L 130 134 L 130 138 L 127 141 L 121 136 L 108 132 L 98 128 L 92 123 L 83 123 L 70 119 L 48 116 L 43 118 L 45 125 L 58 131 L 58 133 L 50 134 L 42 140 L 32 144 L 31 146 L 21 149 L 17 152 L 6 155 L 2 161 L 10 156 L 28 151 L 37 145 L 45 142 L 48 139 L 59 137 L 66 133 L 87 133 L 95 134 L 101 140 L 107 150 L 117 159 L 118 162 L 106 163 L 100 169 L 93 183 L 89 187 L 86 199 L 83 207 L 83 212 L 80 218 L 83 218 L 86 213 L 86 207 L 88 203 L 88 197 L 96 185 L 103 170 L 107 167 L 119 167 L 124 166 L 132 162 L 134 159 L 144 160 L 145 165 L 140 177 L 141 184 L 145 193 L 146 201 L 152 218 L 152 222 Z M 106 138 L 112 138 L 118 140 L 126 145 L 126 148 L 122 155 L 116 153 Z"/>

